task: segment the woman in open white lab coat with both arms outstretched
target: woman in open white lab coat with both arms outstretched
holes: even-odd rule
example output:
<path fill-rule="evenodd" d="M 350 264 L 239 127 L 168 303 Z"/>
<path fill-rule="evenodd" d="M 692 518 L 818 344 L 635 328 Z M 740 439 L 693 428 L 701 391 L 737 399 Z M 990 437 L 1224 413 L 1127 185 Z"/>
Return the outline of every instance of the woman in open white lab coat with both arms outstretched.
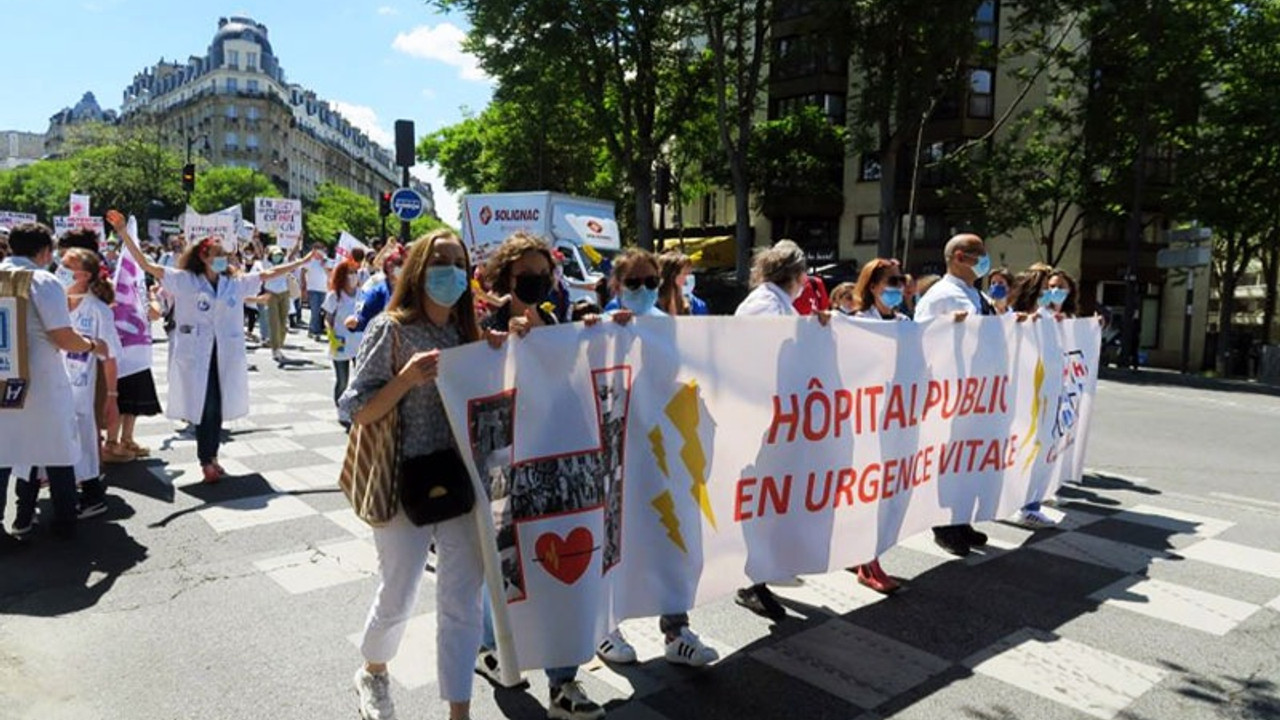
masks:
<path fill-rule="evenodd" d="M 244 347 L 244 300 L 262 281 L 297 270 L 311 256 L 261 273 L 233 273 L 220 238 L 206 237 L 187 247 L 177 268 L 151 261 L 129 234 L 124 217 L 106 214 L 138 266 L 173 295 L 174 328 L 169 351 L 169 411 L 196 427 L 196 455 L 206 483 L 225 474 L 218 464 L 223 421 L 248 414 L 248 356 Z M 234 242 L 234 238 L 232 238 Z"/>

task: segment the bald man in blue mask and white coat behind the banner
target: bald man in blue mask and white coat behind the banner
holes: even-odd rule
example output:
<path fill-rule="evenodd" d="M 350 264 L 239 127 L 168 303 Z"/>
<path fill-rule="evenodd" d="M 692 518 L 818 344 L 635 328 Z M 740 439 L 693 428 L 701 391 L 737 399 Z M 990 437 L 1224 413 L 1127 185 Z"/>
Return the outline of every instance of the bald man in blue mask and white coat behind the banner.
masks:
<path fill-rule="evenodd" d="M 995 309 L 974 283 L 991 272 L 991 258 L 982 238 L 961 233 L 947 241 L 943 250 L 947 274 L 924 293 L 915 306 L 915 322 L 950 316 L 961 322 L 969 315 L 993 315 Z M 987 544 L 986 533 L 973 525 L 943 525 L 933 528 L 933 542 L 952 555 L 969 555 L 970 548 Z"/>

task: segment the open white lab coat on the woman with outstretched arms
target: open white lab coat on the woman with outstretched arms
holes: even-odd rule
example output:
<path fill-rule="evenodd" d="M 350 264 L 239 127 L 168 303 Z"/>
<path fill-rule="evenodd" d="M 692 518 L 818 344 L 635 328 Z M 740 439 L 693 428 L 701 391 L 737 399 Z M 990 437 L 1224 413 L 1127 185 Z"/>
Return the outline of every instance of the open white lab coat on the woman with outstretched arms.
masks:
<path fill-rule="evenodd" d="M 174 296 L 169 402 L 165 414 L 175 420 L 200 423 L 205 413 L 209 363 L 216 343 L 223 420 L 248 415 L 244 300 L 259 295 L 261 275 L 223 275 L 215 292 L 209 278 L 202 274 L 165 268 L 163 284 Z"/>

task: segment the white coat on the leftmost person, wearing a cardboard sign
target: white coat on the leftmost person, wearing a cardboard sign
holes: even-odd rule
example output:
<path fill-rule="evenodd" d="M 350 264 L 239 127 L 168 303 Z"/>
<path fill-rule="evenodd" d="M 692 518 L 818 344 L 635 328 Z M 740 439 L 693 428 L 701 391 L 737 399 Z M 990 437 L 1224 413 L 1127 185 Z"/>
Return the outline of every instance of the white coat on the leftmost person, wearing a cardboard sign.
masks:
<path fill-rule="evenodd" d="M 74 465 L 81 446 L 72 411 L 72 386 L 63 369 L 61 351 L 49 337 L 51 331 L 72 325 L 67 291 L 52 273 L 37 268 L 28 258 L 0 260 L 0 269 L 32 273 L 24 337 L 29 384 L 20 410 L 0 409 L 0 468 Z"/>

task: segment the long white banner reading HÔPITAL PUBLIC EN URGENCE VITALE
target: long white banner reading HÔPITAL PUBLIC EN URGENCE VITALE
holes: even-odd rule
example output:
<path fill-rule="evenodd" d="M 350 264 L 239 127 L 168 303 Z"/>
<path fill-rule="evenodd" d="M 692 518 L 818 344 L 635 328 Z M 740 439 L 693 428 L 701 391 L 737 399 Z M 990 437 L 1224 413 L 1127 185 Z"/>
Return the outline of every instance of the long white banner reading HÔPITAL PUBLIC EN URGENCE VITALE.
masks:
<path fill-rule="evenodd" d="M 1014 515 L 1080 477 L 1100 345 L 1094 320 L 640 318 L 444 351 L 503 661 Z"/>

